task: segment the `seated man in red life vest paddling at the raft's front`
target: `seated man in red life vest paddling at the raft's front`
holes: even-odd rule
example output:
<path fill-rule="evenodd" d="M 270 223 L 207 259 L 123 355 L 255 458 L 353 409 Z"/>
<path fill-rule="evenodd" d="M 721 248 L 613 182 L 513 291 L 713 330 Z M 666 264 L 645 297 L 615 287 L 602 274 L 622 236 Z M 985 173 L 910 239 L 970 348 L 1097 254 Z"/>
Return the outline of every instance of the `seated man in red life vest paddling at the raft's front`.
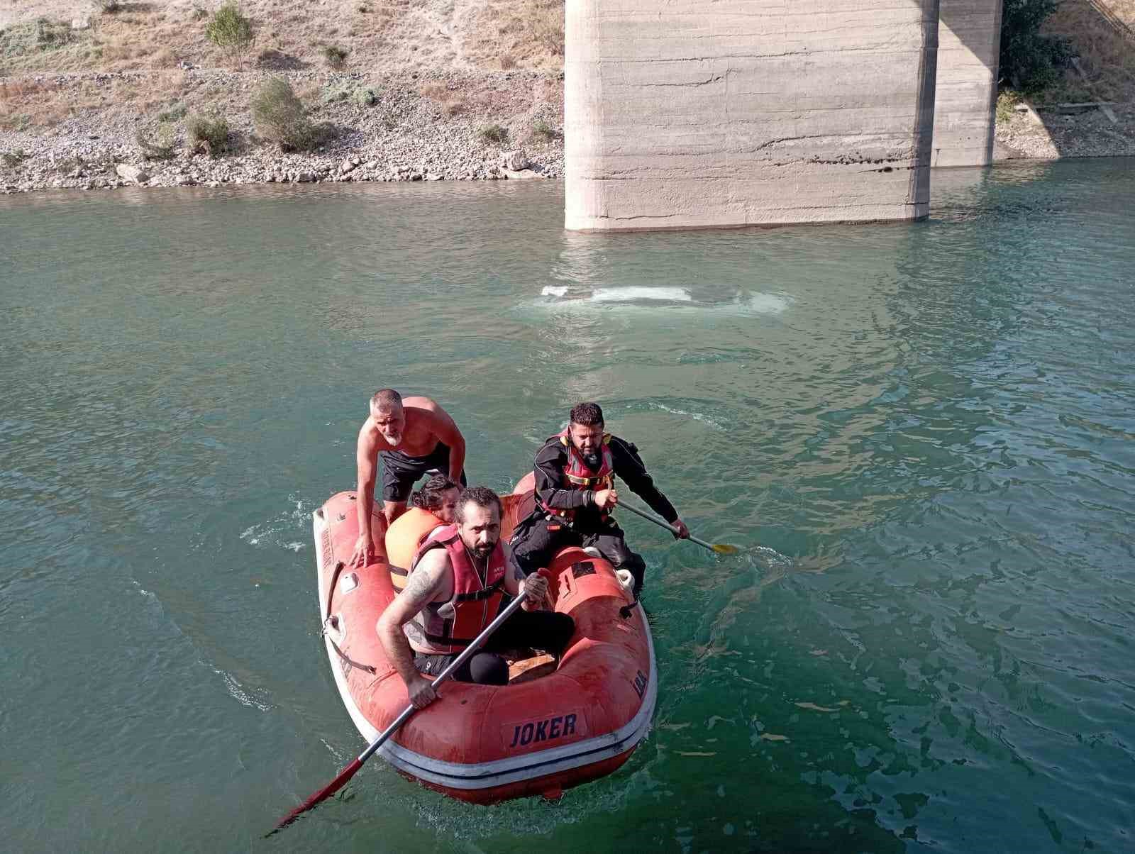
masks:
<path fill-rule="evenodd" d="M 501 499 L 476 486 L 457 500 L 456 525 L 435 530 L 410 567 L 406 587 L 378 620 L 378 637 L 406 684 L 410 702 L 424 709 L 436 697 L 422 673 L 437 676 L 497 616 L 505 593 L 524 596 L 510 617 L 453 678 L 505 685 L 508 663 L 494 651 L 536 647 L 558 656 L 575 630 L 568 614 L 540 611 L 544 576 L 527 578 L 510 566 L 501 542 Z"/>

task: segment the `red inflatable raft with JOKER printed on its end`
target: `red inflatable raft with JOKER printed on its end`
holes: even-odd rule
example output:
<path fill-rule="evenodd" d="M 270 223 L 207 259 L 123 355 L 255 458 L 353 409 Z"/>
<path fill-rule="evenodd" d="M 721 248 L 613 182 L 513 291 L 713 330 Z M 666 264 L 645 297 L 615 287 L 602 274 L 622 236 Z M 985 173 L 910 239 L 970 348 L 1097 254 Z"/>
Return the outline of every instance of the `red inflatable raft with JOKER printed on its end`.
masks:
<path fill-rule="evenodd" d="M 504 496 L 504 538 L 526 499 L 531 501 L 531 487 L 524 492 L 524 485 Z M 385 518 L 377 510 L 372 526 L 375 562 L 348 569 L 343 563 L 359 536 L 354 493 L 331 496 L 314 513 L 327 654 L 343 703 L 368 742 L 410 703 L 375 630 L 396 591 Z M 508 685 L 447 683 L 439 700 L 379 748 L 403 775 L 480 804 L 557 797 L 614 771 L 646 736 L 657 668 L 641 606 L 620 617 L 629 594 L 607 561 L 579 549 L 561 552 L 549 570 L 555 610 L 575 620 L 558 665 L 548 656 L 522 659 L 513 662 Z M 393 571 L 398 579 L 398 568 Z"/>

